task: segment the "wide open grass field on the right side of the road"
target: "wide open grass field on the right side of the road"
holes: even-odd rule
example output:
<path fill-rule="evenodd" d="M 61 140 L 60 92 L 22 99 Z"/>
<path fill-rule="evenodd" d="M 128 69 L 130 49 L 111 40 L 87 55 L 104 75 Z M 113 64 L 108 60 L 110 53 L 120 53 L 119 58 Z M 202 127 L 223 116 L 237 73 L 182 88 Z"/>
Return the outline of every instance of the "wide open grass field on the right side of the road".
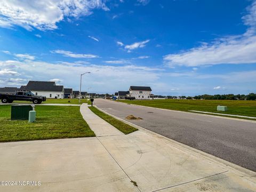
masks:
<path fill-rule="evenodd" d="M 119 102 L 131 103 L 148 107 L 156 107 L 172 110 L 198 110 L 213 113 L 243 115 L 256 117 L 256 101 L 239 101 L 239 100 L 178 100 L 178 99 L 161 99 L 161 100 L 118 100 Z M 228 106 L 228 111 L 217 111 L 217 106 Z"/>

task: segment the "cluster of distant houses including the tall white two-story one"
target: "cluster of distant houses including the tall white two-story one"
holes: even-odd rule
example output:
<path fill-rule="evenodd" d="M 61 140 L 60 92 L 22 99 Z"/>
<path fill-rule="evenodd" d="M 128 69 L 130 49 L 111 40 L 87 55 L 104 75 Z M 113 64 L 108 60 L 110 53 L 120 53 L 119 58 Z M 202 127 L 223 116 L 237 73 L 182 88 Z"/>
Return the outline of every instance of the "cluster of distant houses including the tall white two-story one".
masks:
<path fill-rule="evenodd" d="M 116 99 L 153 99 L 154 94 L 151 91 L 149 86 L 130 86 L 129 91 L 118 91 L 114 96 Z"/>

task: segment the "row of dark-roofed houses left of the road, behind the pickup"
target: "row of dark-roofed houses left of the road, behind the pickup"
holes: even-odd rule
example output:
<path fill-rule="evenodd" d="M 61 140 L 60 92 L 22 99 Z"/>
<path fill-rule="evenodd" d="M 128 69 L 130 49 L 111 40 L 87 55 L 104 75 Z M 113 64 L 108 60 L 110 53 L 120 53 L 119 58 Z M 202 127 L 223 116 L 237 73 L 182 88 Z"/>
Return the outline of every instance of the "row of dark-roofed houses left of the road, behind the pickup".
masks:
<path fill-rule="evenodd" d="M 64 88 L 63 85 L 56 85 L 55 82 L 29 81 L 27 85 L 18 87 L 0 87 L 0 93 L 13 94 L 17 90 L 27 90 L 35 95 L 42 95 L 46 98 L 63 99 L 78 98 L 79 91 L 73 91 L 71 88 Z M 95 97 L 95 93 L 81 92 L 81 98 Z"/>

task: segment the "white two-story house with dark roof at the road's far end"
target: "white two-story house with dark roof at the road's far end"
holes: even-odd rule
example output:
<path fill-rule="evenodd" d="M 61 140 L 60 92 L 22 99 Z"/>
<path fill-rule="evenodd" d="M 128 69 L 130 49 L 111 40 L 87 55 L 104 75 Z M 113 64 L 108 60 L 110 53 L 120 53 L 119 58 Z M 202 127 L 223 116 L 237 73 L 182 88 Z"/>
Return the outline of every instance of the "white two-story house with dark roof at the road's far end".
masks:
<path fill-rule="evenodd" d="M 128 97 L 135 99 L 150 99 L 151 88 L 149 86 L 130 86 Z"/>

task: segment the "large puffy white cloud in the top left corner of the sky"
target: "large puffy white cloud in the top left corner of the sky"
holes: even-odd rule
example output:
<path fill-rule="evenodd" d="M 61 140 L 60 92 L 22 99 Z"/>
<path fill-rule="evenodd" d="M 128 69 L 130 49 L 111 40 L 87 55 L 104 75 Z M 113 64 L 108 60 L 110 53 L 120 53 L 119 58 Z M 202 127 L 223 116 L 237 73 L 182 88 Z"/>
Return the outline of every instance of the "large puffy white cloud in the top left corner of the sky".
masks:
<path fill-rule="evenodd" d="M 65 17 L 90 15 L 93 9 L 109 10 L 105 0 L 0 1 L 0 26 L 11 28 L 18 25 L 27 30 L 53 30 L 58 28 L 56 23 Z"/>

